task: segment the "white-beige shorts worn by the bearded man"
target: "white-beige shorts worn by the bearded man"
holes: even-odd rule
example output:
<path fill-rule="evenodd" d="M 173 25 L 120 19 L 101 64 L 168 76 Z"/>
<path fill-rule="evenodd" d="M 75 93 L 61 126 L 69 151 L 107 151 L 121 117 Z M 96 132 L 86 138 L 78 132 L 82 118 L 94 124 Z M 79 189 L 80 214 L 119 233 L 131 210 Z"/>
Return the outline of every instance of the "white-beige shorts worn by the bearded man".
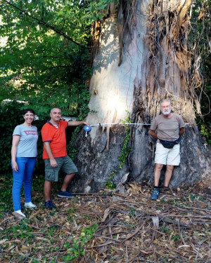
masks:
<path fill-rule="evenodd" d="M 170 166 L 179 166 L 180 163 L 180 144 L 175 144 L 172 149 L 167 149 L 161 143 L 156 144 L 155 163 Z"/>

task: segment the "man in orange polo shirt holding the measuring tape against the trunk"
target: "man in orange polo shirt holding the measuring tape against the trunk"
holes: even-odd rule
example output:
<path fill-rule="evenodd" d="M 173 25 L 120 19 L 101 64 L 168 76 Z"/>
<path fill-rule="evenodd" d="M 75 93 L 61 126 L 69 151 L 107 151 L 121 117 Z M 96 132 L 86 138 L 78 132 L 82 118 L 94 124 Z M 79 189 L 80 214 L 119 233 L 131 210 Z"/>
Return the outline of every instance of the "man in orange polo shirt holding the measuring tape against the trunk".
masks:
<path fill-rule="evenodd" d="M 58 182 L 58 172 L 66 173 L 63 185 L 58 191 L 60 197 L 73 197 L 67 191 L 68 184 L 77 173 L 77 167 L 72 162 L 66 150 L 65 128 L 68 126 L 89 125 L 86 121 L 62 121 L 61 110 L 51 109 L 51 120 L 41 128 L 41 137 L 44 142 L 43 159 L 45 163 L 44 195 L 46 208 L 55 208 L 51 201 L 51 182 Z"/>

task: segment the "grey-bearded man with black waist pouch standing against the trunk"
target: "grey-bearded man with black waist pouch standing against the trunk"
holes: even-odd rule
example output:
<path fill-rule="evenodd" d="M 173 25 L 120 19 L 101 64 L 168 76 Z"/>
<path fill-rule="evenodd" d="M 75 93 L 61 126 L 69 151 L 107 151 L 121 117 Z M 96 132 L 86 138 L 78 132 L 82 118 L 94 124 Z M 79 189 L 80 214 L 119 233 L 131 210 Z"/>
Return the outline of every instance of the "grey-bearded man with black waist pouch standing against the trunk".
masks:
<path fill-rule="evenodd" d="M 151 200 L 157 200 L 159 195 L 160 172 L 166 166 L 164 188 L 168 188 L 174 166 L 180 163 L 180 140 L 185 132 L 185 124 L 179 114 L 172 113 L 170 100 L 160 102 L 162 114 L 155 116 L 151 125 L 150 135 L 157 139 L 155 151 L 154 189 Z M 155 133 L 157 130 L 157 133 Z"/>

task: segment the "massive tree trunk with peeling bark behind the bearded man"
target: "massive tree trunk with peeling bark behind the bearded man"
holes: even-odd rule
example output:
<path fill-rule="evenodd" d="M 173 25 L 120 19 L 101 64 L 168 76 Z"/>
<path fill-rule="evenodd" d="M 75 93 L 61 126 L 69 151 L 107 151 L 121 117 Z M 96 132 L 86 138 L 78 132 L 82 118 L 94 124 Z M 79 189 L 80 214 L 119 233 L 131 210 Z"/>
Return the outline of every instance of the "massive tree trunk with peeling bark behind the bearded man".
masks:
<path fill-rule="evenodd" d="M 170 183 L 193 184 L 209 173 L 207 149 L 195 123 L 195 110 L 200 114 L 195 92 L 200 77 L 198 65 L 191 66 L 187 46 L 190 6 L 191 0 L 120 1 L 118 6 L 110 4 L 108 18 L 95 25 L 100 36 L 93 48 L 87 121 L 121 123 L 129 112 L 136 125 L 129 126 L 131 151 L 121 168 L 118 157 L 124 155 L 125 125 L 93 126 L 88 137 L 80 133 L 75 142 L 79 174 L 72 190 L 97 191 L 110 175 L 117 184 L 127 172 L 129 180 L 153 181 L 155 142 L 148 135 L 150 126 L 143 123 L 159 114 L 163 98 L 170 98 L 174 112 L 191 123 L 181 142 L 181 164 L 174 168 Z"/>

